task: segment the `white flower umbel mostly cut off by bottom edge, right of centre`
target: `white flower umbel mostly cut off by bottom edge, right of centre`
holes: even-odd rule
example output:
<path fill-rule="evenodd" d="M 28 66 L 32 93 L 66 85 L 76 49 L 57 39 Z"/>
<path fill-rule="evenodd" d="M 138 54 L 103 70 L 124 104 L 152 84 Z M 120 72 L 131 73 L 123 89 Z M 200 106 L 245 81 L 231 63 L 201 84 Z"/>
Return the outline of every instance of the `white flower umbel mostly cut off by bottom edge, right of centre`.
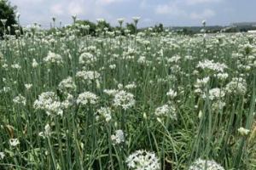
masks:
<path fill-rule="evenodd" d="M 224 167 L 221 167 L 213 160 L 198 159 L 189 167 L 189 170 L 224 170 Z"/>

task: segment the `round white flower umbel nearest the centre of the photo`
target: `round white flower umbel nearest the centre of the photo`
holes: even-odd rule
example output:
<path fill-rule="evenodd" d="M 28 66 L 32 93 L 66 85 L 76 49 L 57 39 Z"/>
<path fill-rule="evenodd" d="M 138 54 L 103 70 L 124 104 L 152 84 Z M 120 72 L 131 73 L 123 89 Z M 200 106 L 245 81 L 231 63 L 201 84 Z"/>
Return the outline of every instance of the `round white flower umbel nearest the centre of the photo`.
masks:
<path fill-rule="evenodd" d="M 124 110 L 127 110 L 135 105 L 134 95 L 121 90 L 114 94 L 113 105 L 116 107 L 120 106 Z"/>

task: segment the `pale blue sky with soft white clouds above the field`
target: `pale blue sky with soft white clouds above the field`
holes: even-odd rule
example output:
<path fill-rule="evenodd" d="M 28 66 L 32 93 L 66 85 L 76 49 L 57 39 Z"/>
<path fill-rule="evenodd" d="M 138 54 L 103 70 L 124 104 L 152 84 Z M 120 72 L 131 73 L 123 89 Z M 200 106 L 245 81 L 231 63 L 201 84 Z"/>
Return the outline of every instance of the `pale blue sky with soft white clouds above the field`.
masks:
<path fill-rule="evenodd" d="M 118 18 L 131 22 L 139 16 L 138 26 L 228 26 L 233 22 L 256 21 L 256 0 L 10 0 L 17 5 L 22 25 L 40 23 L 49 27 L 51 16 L 62 26 L 81 20 L 104 18 L 116 26 Z"/>

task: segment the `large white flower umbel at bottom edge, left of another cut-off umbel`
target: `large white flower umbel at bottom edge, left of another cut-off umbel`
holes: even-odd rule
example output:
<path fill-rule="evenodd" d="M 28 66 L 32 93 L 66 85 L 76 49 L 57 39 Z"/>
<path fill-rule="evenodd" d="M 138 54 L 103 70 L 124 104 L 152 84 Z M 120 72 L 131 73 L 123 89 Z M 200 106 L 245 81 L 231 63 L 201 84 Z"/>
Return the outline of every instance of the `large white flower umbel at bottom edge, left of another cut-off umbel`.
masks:
<path fill-rule="evenodd" d="M 154 152 L 137 150 L 126 159 L 127 166 L 133 170 L 160 170 L 160 160 Z"/>

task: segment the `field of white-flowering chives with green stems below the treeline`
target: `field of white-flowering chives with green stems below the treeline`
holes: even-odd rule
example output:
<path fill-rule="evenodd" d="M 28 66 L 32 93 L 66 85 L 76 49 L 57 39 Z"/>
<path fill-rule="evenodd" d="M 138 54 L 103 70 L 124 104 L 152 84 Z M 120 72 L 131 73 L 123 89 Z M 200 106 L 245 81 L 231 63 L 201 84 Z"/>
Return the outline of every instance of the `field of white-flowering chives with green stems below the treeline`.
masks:
<path fill-rule="evenodd" d="M 6 29 L 0 169 L 256 169 L 255 35 L 88 29 Z"/>

